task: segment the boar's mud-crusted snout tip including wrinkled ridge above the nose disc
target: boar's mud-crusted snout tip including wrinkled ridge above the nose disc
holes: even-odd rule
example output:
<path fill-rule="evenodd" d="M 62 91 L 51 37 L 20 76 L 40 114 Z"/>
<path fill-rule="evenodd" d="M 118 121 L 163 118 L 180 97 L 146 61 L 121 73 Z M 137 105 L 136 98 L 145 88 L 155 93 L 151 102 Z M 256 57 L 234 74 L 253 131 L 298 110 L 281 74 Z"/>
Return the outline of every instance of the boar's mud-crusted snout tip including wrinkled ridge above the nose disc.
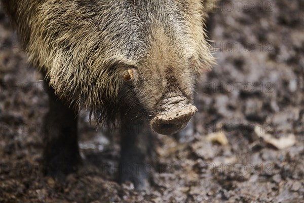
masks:
<path fill-rule="evenodd" d="M 185 128 L 197 111 L 197 108 L 184 96 L 164 98 L 160 101 L 159 107 L 160 111 L 150 120 L 150 126 L 154 131 L 166 135 Z"/>

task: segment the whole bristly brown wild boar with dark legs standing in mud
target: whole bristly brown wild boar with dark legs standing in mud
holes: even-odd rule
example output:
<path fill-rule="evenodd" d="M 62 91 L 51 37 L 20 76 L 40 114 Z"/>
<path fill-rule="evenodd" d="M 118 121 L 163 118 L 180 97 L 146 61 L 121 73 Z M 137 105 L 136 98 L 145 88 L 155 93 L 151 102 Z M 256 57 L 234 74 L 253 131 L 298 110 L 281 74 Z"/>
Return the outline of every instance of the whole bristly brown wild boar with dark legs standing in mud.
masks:
<path fill-rule="evenodd" d="M 173 134 L 197 111 L 200 74 L 214 64 L 203 0 L 2 0 L 29 61 L 45 74 L 46 174 L 64 177 L 81 162 L 77 115 L 121 126 L 121 168 L 147 161 L 151 130 Z M 59 98 L 59 99 L 58 99 Z M 144 170 L 124 173 L 136 189 Z"/>

